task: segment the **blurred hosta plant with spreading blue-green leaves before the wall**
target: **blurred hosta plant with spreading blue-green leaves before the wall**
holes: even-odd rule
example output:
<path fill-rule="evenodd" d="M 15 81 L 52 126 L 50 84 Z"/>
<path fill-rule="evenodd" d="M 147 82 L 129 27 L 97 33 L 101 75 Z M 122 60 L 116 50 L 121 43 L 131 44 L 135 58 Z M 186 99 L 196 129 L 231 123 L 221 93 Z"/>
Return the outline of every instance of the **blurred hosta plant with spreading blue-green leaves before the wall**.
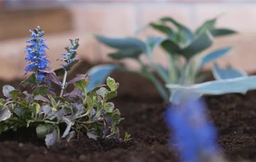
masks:
<path fill-rule="evenodd" d="M 175 19 L 165 17 L 148 25 L 156 31 L 162 32 L 164 34 L 162 37 L 147 37 L 144 41 L 137 37 L 96 36 L 96 39 L 117 50 L 115 53 L 108 54 L 110 58 L 115 60 L 132 58 L 139 62 L 141 70 L 138 73 L 152 81 L 163 100 L 168 101 L 170 94 L 172 95 L 171 100 L 173 100 L 174 92 L 166 89 L 157 80 L 153 71 L 156 71 L 166 84 L 191 85 L 199 83 L 209 77 L 209 73 L 201 74 L 201 69 L 209 62 L 228 54 L 232 49 L 232 47 L 225 47 L 209 53 L 202 53 L 213 44 L 214 37 L 236 33 L 230 29 L 216 28 L 216 20 L 217 18 L 209 19 L 195 31 L 191 31 Z M 152 53 L 158 46 L 167 54 L 168 68 L 155 63 L 152 59 Z M 146 56 L 149 65 L 141 61 L 141 55 Z M 185 60 L 185 63 L 182 63 L 182 59 Z"/>

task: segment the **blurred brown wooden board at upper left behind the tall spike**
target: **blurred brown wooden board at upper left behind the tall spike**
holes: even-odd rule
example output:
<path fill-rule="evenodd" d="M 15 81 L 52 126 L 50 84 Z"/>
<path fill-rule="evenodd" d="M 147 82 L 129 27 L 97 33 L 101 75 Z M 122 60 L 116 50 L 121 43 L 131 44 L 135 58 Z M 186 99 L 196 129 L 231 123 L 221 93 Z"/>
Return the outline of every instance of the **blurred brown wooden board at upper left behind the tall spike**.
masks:
<path fill-rule="evenodd" d="M 0 40 L 29 37 L 40 26 L 47 34 L 72 30 L 72 15 L 65 8 L 10 10 L 0 12 Z"/>

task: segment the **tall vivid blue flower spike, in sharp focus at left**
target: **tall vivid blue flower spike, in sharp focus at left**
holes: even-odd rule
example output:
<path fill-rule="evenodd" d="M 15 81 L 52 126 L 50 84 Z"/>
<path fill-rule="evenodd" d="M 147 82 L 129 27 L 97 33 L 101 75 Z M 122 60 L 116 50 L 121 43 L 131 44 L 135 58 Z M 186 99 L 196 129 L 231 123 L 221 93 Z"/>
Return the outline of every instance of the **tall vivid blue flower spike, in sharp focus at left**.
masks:
<path fill-rule="evenodd" d="M 43 35 L 44 31 L 42 31 L 40 26 L 37 26 L 34 31 L 30 30 L 32 38 L 26 41 L 30 45 L 26 47 L 27 58 L 25 60 L 30 63 L 26 66 L 25 71 L 34 72 L 38 84 L 48 82 L 45 75 L 45 70 L 49 68 L 49 60 L 45 51 L 45 49 L 48 49 L 48 46 L 45 44 L 46 39 L 42 38 Z"/>

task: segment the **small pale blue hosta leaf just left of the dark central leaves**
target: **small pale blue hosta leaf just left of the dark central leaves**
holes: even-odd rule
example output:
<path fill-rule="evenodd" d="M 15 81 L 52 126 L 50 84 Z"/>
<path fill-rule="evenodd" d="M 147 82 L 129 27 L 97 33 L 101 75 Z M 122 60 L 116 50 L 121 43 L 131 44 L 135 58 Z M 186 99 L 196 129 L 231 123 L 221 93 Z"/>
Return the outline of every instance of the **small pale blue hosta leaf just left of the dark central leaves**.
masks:
<path fill-rule="evenodd" d="M 146 46 L 147 46 L 147 52 L 145 52 L 145 55 L 151 55 L 153 50 L 158 47 L 162 42 L 165 41 L 165 38 L 162 37 L 147 37 L 146 40 Z"/>

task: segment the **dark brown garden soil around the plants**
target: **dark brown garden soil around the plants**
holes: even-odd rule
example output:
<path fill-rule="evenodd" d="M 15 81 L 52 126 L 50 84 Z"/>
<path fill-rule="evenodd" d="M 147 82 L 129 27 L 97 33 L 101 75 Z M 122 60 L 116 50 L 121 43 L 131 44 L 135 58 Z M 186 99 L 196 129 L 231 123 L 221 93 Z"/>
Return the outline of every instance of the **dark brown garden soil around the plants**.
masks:
<path fill-rule="evenodd" d="M 84 74 L 89 67 L 87 62 L 81 63 L 72 75 Z M 121 85 L 114 100 L 125 118 L 119 126 L 121 137 L 127 131 L 132 135 L 130 141 L 94 141 L 80 135 L 73 142 L 61 141 L 47 149 L 44 141 L 35 137 L 33 129 L 23 129 L 2 134 L 0 162 L 177 162 L 178 156 L 168 144 L 169 132 L 163 119 L 167 104 L 162 103 L 154 86 L 135 74 L 115 72 L 111 76 Z M 0 81 L 0 87 L 4 84 L 19 87 L 19 82 Z M 232 162 L 256 161 L 256 91 L 206 100 L 225 155 Z"/>

